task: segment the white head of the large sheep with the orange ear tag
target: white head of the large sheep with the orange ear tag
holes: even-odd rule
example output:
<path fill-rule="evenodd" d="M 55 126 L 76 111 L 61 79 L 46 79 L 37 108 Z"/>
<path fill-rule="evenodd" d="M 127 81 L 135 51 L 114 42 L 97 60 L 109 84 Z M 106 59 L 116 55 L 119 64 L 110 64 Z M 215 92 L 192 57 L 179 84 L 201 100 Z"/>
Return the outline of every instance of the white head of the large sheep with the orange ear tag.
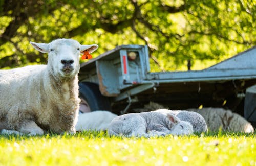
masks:
<path fill-rule="evenodd" d="M 57 39 L 48 44 L 30 43 L 36 50 L 48 53 L 48 65 L 52 74 L 64 78 L 71 78 L 78 74 L 80 54 L 86 50 L 92 53 L 98 49 L 97 44 L 81 45 L 73 39 Z"/>

